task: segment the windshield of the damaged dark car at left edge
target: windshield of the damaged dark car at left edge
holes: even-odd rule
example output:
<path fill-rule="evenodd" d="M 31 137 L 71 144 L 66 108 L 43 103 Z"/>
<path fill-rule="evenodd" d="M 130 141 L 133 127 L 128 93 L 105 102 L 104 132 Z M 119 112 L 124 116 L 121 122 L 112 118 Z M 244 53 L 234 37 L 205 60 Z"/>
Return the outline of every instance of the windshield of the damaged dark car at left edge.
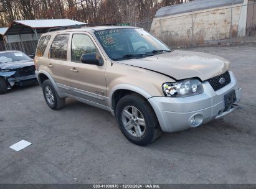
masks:
<path fill-rule="evenodd" d="M 15 62 L 21 60 L 31 60 L 31 58 L 24 55 L 22 52 L 4 52 L 0 53 L 0 63 Z"/>

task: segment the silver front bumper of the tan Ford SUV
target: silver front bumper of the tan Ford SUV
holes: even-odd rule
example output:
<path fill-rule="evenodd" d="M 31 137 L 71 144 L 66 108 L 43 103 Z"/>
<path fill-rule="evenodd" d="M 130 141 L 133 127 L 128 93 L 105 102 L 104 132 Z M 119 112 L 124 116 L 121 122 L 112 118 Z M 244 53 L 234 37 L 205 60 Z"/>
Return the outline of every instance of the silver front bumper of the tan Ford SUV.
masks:
<path fill-rule="evenodd" d="M 197 127 L 212 119 L 217 119 L 231 113 L 238 108 L 237 102 L 242 96 L 242 89 L 237 85 L 234 74 L 229 71 L 231 82 L 220 90 L 214 91 L 212 86 L 204 81 L 204 93 L 185 98 L 153 97 L 148 101 L 158 117 L 161 129 L 164 132 L 175 132 Z M 227 111 L 224 95 L 235 90 L 237 101 Z M 191 123 L 191 119 L 194 122 Z"/>

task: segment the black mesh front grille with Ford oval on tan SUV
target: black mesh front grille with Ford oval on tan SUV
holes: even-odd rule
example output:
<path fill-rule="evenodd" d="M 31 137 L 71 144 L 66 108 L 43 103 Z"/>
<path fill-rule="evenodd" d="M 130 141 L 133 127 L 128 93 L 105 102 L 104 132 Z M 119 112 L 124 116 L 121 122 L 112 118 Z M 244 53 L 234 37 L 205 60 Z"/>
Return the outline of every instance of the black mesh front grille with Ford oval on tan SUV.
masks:
<path fill-rule="evenodd" d="M 224 83 L 220 83 L 221 78 L 225 79 Z M 210 83 L 210 85 L 212 86 L 214 91 L 217 91 L 217 90 L 220 90 L 222 87 L 228 85 L 231 82 L 231 79 L 230 79 L 229 71 L 226 71 L 224 74 L 215 76 L 214 78 L 210 78 L 206 81 L 208 81 Z M 222 79 L 222 81 L 223 81 L 223 79 Z"/>

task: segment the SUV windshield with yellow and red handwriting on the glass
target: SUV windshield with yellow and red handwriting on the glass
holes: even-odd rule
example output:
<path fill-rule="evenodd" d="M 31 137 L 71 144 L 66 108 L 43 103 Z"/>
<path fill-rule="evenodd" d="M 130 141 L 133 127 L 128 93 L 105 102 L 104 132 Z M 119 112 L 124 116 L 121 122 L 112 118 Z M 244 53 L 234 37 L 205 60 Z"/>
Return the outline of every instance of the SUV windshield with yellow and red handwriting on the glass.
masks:
<path fill-rule="evenodd" d="M 94 32 L 112 60 L 144 58 L 171 50 L 143 29 L 107 29 Z"/>

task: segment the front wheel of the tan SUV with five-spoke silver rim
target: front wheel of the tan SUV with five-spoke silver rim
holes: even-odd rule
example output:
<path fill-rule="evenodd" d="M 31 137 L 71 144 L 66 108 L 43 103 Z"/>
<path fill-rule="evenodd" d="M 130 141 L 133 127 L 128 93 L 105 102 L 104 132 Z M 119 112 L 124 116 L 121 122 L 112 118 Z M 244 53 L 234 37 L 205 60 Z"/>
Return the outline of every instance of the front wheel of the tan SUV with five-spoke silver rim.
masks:
<path fill-rule="evenodd" d="M 162 134 L 156 114 L 148 101 L 138 94 L 121 98 L 116 105 L 115 115 L 123 135 L 136 145 L 148 145 Z"/>

